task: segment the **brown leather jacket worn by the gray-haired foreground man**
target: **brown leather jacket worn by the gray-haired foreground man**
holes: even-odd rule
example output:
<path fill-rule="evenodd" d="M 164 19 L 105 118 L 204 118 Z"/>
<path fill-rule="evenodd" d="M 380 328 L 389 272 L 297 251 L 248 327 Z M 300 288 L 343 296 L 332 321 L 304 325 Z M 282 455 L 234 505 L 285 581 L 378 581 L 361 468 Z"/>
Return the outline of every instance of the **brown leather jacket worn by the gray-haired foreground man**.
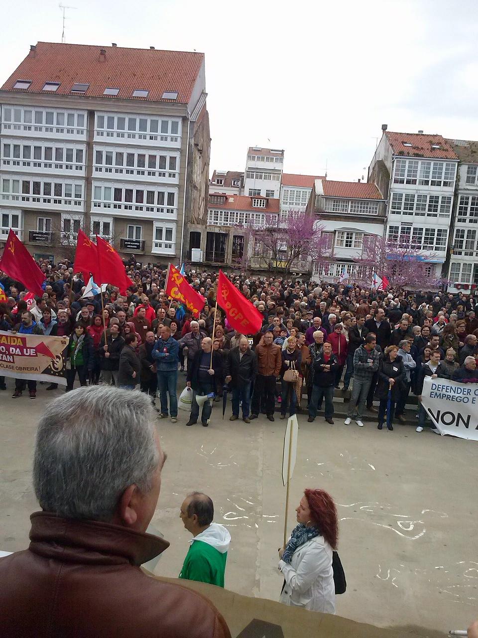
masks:
<path fill-rule="evenodd" d="M 141 571 L 162 538 L 47 512 L 31 523 L 29 549 L 0 560 L 2 638 L 230 638 L 209 600 Z"/>

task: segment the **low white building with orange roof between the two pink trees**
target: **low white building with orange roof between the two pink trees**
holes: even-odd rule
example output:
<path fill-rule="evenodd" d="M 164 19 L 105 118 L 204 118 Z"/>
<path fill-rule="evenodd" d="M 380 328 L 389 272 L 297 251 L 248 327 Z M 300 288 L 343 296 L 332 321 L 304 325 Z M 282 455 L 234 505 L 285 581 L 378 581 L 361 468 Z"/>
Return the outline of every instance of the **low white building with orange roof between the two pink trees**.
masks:
<path fill-rule="evenodd" d="M 322 225 L 324 253 L 329 255 L 326 265 L 312 264 L 312 278 L 336 283 L 343 272 L 350 279 L 361 278 L 356 260 L 370 242 L 384 235 L 386 200 L 377 186 L 316 179 L 306 211 L 315 214 Z"/>

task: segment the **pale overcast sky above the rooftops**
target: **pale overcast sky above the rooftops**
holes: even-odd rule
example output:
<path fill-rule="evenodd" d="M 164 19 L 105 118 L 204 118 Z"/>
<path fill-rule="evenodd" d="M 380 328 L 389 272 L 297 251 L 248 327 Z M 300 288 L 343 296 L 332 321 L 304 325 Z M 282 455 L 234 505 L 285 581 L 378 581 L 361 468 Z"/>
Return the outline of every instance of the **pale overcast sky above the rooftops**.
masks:
<path fill-rule="evenodd" d="M 476 0 L 64 0 L 66 41 L 206 55 L 213 168 L 248 145 L 286 172 L 356 180 L 381 125 L 478 140 Z M 1 83 L 38 40 L 61 41 L 58 3 L 3 4 Z"/>

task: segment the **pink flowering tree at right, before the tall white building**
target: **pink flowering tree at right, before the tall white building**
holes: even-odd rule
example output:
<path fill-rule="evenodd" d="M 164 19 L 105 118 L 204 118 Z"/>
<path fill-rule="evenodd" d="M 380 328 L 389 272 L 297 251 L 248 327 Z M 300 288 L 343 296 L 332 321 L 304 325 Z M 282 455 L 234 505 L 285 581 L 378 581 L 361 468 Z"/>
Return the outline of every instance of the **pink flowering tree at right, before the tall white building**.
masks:
<path fill-rule="evenodd" d="M 435 276 L 433 255 L 427 255 L 412 244 L 389 241 L 384 237 L 373 238 L 364 244 L 362 255 L 354 262 L 358 265 L 358 283 L 370 286 L 373 273 L 385 276 L 391 288 L 437 288 L 446 283 Z"/>

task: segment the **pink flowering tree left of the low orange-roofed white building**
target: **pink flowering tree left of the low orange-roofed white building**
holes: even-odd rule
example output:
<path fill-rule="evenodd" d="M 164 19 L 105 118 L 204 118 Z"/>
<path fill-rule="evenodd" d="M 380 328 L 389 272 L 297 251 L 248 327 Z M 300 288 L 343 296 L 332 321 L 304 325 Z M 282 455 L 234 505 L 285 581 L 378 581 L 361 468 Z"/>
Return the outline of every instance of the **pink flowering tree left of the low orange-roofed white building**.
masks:
<path fill-rule="evenodd" d="M 246 265 L 287 278 L 294 270 L 307 271 L 311 261 L 328 262 L 330 245 L 317 216 L 291 212 L 288 216 L 267 216 L 264 226 L 249 226 Z M 300 263 L 302 262 L 302 263 Z"/>

